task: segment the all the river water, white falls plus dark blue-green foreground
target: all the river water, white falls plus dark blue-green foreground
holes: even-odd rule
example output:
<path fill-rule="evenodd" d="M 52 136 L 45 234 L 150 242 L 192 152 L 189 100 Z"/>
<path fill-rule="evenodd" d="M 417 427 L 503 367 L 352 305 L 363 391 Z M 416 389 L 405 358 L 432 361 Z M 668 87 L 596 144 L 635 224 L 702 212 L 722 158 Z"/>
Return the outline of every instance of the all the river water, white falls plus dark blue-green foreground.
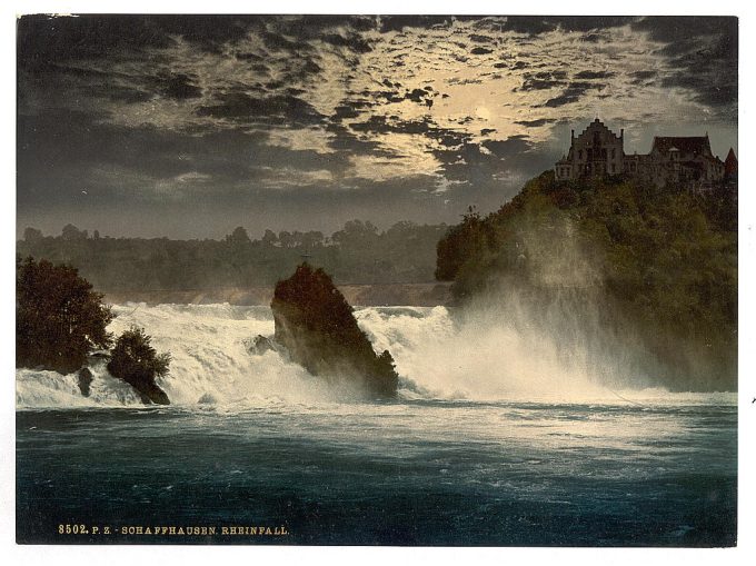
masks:
<path fill-rule="evenodd" d="M 103 361 L 89 397 L 76 376 L 18 370 L 19 542 L 735 542 L 733 394 L 621 387 L 506 325 L 390 307 L 356 311 L 401 376 L 397 400 L 366 401 L 250 354 L 273 331 L 268 308 L 115 311 L 111 330 L 143 326 L 170 351 L 172 405 L 143 407 Z M 66 534 L 77 524 L 87 534 Z M 143 534 L 158 525 L 217 533 Z M 236 525 L 287 534 L 221 534 Z"/>

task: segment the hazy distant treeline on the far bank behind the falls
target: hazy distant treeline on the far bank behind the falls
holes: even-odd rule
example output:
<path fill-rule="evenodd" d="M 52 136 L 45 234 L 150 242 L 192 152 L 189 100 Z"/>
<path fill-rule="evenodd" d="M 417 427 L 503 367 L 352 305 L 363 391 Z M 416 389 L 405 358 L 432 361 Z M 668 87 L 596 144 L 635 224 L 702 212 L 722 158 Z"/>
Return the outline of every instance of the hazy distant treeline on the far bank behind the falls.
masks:
<path fill-rule="evenodd" d="M 171 240 L 101 237 L 68 225 L 59 236 L 27 228 L 17 252 L 73 266 L 101 292 L 272 286 L 302 257 L 339 285 L 406 284 L 434 280 L 436 245 L 446 230 L 400 221 L 381 231 L 351 220 L 330 236 L 265 230 L 251 239 L 238 227 L 221 240 Z"/>

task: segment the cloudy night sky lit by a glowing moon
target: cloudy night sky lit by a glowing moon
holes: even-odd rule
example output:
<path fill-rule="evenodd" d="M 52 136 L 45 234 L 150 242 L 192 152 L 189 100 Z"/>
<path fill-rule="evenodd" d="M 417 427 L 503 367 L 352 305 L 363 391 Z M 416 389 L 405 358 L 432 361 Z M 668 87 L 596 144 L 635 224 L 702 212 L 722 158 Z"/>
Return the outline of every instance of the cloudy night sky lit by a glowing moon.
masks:
<path fill-rule="evenodd" d="M 18 232 L 456 222 L 595 117 L 737 152 L 737 20 L 26 17 Z"/>

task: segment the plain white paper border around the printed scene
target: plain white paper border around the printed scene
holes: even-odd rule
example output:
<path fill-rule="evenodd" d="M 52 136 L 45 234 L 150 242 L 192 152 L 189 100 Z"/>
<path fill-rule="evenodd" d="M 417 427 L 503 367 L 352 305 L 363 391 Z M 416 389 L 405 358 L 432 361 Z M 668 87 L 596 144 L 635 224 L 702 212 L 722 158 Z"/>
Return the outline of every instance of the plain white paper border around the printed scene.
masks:
<path fill-rule="evenodd" d="M 756 558 L 756 523 L 754 507 L 756 503 L 756 470 L 754 469 L 754 453 L 756 448 L 754 433 L 756 420 L 756 186 L 754 185 L 754 169 L 749 167 L 754 143 L 742 136 L 739 140 L 739 160 L 745 166 L 740 168 L 740 222 L 739 222 L 739 488 L 738 488 L 738 546 L 730 549 L 555 549 L 555 548 L 365 548 L 365 547 L 230 547 L 230 546 L 18 546 L 14 543 L 14 384 L 12 360 L 13 356 L 13 296 L 14 251 L 16 251 L 16 17 L 20 13 L 524 13 L 524 14 L 700 14 L 710 16 L 713 12 L 723 16 L 738 16 L 740 18 L 739 32 L 739 132 L 756 131 L 754 127 L 754 110 L 748 108 L 748 101 L 756 100 L 754 92 L 753 66 L 754 38 L 756 26 L 754 16 L 755 4 L 746 4 L 734 0 L 718 2 L 659 2 L 637 0 L 631 3 L 607 3 L 599 1 L 564 2 L 563 1 L 531 1 L 523 3 L 506 3 L 494 1 L 467 0 L 449 1 L 434 0 L 368 0 L 347 2 L 345 0 L 326 0 L 317 3 L 301 0 L 284 0 L 275 4 L 256 4 L 251 2 L 213 0 L 199 1 L 166 1 L 166 0 L 102 0 L 84 1 L 37 1 L 9 2 L 0 9 L 2 42 L 2 63 L 6 77 L 2 89 L 3 132 L 2 159 L 3 190 L 0 191 L 0 306 L 3 324 L 0 340 L 0 360 L 2 361 L 2 385 L 0 386 L 0 426 L 2 435 L 2 453 L 0 458 L 0 555 L 6 557 L 6 564 L 43 564 L 54 563 L 56 566 L 69 564 L 99 562 L 107 556 L 109 566 L 141 564 L 207 564 L 208 560 L 245 560 L 258 564 L 287 564 L 289 562 L 307 560 L 310 565 L 339 565 L 359 562 L 360 566 L 391 564 L 459 564 L 462 562 L 477 563 L 558 563 L 559 565 L 584 564 L 586 560 L 600 559 L 617 565 L 677 564 L 686 565 L 725 562 L 727 564 L 754 564 Z M 262 10 L 260 10 L 260 8 Z M 107 554 L 106 554 L 107 553 Z"/>

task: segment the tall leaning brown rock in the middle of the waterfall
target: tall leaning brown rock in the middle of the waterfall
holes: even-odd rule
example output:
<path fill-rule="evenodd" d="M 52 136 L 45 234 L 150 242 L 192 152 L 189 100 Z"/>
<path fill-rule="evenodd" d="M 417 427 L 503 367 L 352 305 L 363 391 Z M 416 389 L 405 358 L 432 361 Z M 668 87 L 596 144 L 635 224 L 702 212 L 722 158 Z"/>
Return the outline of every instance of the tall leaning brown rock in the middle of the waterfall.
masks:
<path fill-rule="evenodd" d="M 302 264 L 276 285 L 271 304 L 276 340 L 312 375 L 345 379 L 379 397 L 396 395 L 398 376 L 388 350 L 376 356 L 352 309 L 322 269 Z"/>

